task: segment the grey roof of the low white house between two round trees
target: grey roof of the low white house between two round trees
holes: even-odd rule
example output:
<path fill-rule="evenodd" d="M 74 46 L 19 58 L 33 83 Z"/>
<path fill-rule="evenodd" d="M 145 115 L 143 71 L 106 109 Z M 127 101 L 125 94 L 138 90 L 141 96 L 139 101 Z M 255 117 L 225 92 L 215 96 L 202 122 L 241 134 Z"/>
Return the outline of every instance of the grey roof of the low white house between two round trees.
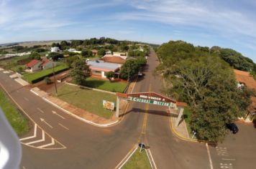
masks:
<path fill-rule="evenodd" d="M 93 70 L 104 71 L 104 72 L 111 72 L 111 71 L 115 72 L 117 69 L 119 69 L 122 66 L 121 64 L 107 63 L 107 62 L 101 62 L 101 61 L 88 61 L 87 64 Z"/>

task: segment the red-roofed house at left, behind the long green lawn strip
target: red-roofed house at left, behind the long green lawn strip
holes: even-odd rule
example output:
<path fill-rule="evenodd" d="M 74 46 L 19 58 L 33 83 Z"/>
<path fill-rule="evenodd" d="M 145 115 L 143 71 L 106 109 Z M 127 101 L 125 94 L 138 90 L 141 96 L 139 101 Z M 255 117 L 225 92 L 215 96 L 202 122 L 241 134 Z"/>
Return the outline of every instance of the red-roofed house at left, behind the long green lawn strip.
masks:
<path fill-rule="evenodd" d="M 49 59 L 42 59 L 37 60 L 37 59 L 32 59 L 29 63 L 26 64 L 28 72 L 37 72 L 42 69 L 50 69 L 53 66 L 56 66 L 55 62 L 50 61 Z"/>

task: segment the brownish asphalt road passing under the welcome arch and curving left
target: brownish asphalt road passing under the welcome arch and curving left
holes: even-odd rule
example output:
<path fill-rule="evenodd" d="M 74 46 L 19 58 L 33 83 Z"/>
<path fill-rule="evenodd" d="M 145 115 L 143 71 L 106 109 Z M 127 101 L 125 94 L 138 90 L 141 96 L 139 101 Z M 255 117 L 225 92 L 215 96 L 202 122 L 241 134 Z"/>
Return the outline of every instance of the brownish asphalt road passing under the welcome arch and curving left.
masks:
<path fill-rule="evenodd" d="M 157 57 L 152 52 L 148 57 L 145 77 L 138 80 L 134 92 L 160 92 L 161 80 L 152 75 L 157 64 Z M 44 146 L 40 143 L 32 144 L 36 148 L 22 145 L 21 168 L 115 168 L 139 141 L 150 146 L 157 168 L 211 168 L 204 143 L 185 142 L 173 135 L 166 107 L 130 102 L 127 109 L 129 113 L 124 116 L 122 122 L 113 127 L 100 128 L 88 125 L 58 110 L 32 94 L 27 87 L 22 87 L 9 78 L 8 74 L 0 72 L 0 83 L 31 120 L 41 127 L 37 130 L 37 137 L 28 142 L 40 140 L 42 132 L 48 134 L 43 142 L 44 145 L 49 144 L 51 139 L 55 140 L 55 145 L 50 146 L 51 150 L 40 148 Z M 32 122 L 32 128 L 34 126 Z M 243 130 L 240 132 L 241 135 L 244 133 L 242 137 L 246 135 Z M 255 133 L 255 130 L 250 132 Z M 30 137 L 33 133 L 34 130 L 24 137 Z M 224 143 L 226 145 L 220 145 L 225 148 L 230 147 L 230 153 L 235 151 L 236 157 L 241 154 L 239 154 L 240 149 L 236 149 L 237 143 L 233 142 L 232 137 L 239 135 L 238 133 L 229 136 L 231 138 L 227 138 L 227 143 Z M 237 140 L 238 143 L 240 141 Z M 252 140 L 249 142 L 252 147 Z M 249 148 L 250 145 L 245 147 L 246 152 L 249 153 L 248 158 L 250 153 L 255 152 L 255 148 Z M 220 162 L 219 156 L 216 155 L 216 148 L 210 147 L 209 153 L 213 160 L 212 167 L 221 168 L 222 161 Z M 242 166 L 241 164 L 247 166 L 247 160 L 242 159 L 239 162 L 238 158 L 232 160 L 232 167 Z M 251 164 L 252 160 L 247 163 Z"/>

